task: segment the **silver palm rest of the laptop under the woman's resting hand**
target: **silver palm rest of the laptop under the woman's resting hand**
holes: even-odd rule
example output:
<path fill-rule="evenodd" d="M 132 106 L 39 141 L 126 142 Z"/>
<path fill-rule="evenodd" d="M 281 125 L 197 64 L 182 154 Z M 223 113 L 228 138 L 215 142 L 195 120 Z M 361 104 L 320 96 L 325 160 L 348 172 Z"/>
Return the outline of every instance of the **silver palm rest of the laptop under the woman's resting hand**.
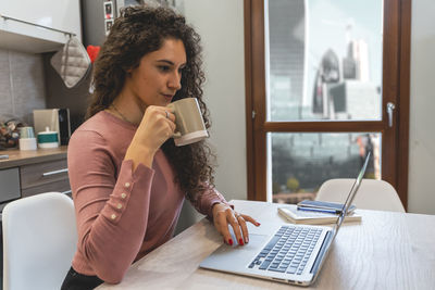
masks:
<path fill-rule="evenodd" d="M 249 234 L 248 243 L 245 245 L 233 244 L 232 247 L 222 244 L 202 261 L 200 266 L 206 268 L 228 269 L 233 266 L 246 265 L 253 260 L 254 254 L 265 245 L 266 241 L 268 236 L 265 235 Z"/>

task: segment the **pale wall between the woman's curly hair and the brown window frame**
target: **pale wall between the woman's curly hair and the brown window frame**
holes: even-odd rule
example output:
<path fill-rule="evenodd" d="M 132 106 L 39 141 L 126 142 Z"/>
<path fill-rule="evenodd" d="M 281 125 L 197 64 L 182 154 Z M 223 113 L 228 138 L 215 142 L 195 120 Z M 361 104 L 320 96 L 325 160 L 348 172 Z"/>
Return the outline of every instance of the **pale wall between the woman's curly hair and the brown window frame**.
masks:
<path fill-rule="evenodd" d="M 185 0 L 184 14 L 200 34 L 211 113 L 210 143 L 217 155 L 215 185 L 227 200 L 247 199 L 244 1 Z M 188 202 L 178 231 L 200 216 Z"/>

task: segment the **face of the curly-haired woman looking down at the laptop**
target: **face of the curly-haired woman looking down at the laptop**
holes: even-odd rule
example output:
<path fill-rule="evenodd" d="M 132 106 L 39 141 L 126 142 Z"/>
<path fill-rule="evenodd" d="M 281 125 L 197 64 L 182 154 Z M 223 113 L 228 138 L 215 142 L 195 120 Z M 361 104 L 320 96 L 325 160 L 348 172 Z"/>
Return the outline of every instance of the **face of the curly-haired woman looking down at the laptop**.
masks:
<path fill-rule="evenodd" d="M 140 59 L 139 66 L 126 78 L 126 92 L 142 109 L 149 105 L 167 105 L 182 88 L 182 71 L 186 65 L 186 51 L 182 40 L 169 38 L 162 47 Z"/>

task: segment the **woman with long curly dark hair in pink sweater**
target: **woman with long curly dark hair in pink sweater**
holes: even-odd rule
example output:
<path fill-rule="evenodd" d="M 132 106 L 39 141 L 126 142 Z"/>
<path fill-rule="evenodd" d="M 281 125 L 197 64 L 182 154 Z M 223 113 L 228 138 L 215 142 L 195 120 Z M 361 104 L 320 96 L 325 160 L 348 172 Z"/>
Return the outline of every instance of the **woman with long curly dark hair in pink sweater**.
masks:
<path fill-rule="evenodd" d="M 224 242 L 249 241 L 246 222 L 213 186 L 204 142 L 175 147 L 175 100 L 202 101 L 199 36 L 163 8 L 126 8 L 95 67 L 88 121 L 69 146 L 78 242 L 62 289 L 117 283 L 129 265 L 166 242 L 184 198 L 213 220 Z M 237 241 L 228 230 L 232 226 Z"/>

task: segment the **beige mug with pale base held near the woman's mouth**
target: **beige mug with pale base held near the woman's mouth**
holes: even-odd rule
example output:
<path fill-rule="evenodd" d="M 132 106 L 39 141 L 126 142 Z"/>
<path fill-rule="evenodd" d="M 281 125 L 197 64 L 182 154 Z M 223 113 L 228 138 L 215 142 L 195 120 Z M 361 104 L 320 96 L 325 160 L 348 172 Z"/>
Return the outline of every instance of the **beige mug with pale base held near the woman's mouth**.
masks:
<path fill-rule="evenodd" d="M 173 138 L 176 146 L 195 143 L 209 137 L 197 99 L 182 99 L 170 103 L 167 108 L 175 114 Z"/>

